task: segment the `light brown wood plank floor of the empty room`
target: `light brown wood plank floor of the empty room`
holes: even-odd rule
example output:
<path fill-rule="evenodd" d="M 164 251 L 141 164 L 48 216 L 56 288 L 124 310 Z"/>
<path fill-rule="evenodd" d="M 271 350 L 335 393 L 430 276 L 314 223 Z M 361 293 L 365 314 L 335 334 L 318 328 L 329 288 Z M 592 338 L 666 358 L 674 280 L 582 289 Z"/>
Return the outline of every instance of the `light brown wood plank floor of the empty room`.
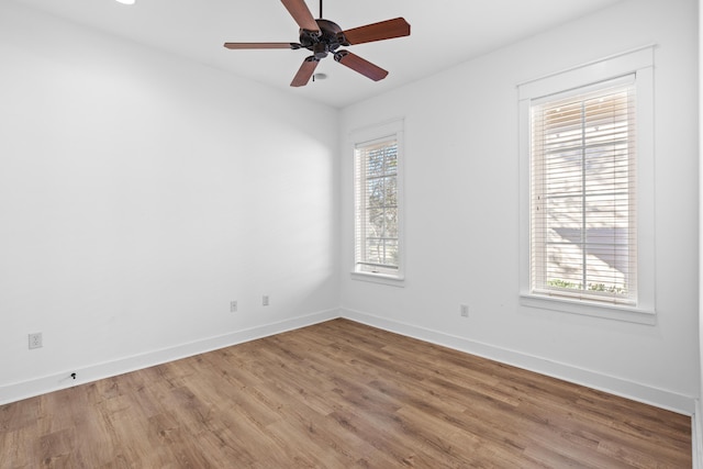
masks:
<path fill-rule="evenodd" d="M 0 468 L 689 468 L 691 418 L 335 320 L 0 406 Z"/>

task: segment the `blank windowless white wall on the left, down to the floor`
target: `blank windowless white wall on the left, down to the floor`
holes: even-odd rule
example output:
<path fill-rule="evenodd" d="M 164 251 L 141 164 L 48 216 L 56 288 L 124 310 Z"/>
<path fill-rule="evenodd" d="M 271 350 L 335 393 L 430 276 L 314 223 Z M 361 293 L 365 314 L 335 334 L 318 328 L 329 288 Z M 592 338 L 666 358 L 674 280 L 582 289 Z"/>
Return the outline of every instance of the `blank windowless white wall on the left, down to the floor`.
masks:
<path fill-rule="evenodd" d="M 0 403 L 337 315 L 338 111 L 9 2 L 0 62 Z"/>

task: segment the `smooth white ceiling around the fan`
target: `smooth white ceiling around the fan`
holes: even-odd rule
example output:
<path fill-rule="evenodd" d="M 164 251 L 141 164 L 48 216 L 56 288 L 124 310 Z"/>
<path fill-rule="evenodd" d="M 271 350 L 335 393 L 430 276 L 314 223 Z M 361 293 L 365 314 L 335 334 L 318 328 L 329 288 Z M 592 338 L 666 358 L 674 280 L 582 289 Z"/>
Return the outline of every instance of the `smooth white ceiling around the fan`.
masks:
<path fill-rule="evenodd" d="M 403 16 L 411 36 L 349 51 L 390 71 L 375 82 L 326 57 L 326 80 L 289 83 L 308 51 L 228 51 L 223 43 L 298 42 L 298 25 L 279 0 L 15 0 L 52 14 L 178 54 L 336 108 L 450 68 L 472 57 L 610 7 L 621 0 L 325 0 L 342 29 Z M 306 0 L 313 16 L 319 0 Z"/>

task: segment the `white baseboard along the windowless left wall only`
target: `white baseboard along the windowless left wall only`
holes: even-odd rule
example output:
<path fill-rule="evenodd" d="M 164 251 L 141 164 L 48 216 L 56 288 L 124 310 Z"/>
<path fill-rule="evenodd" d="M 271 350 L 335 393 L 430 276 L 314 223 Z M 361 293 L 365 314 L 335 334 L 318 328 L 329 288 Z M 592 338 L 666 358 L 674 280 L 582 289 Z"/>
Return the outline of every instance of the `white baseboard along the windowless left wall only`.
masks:
<path fill-rule="evenodd" d="M 71 369 L 66 372 L 35 378 L 29 381 L 0 386 L 0 405 L 33 398 L 52 391 L 58 391 L 72 386 L 85 384 L 87 382 L 153 367 L 167 361 L 203 354 L 219 348 L 228 347 L 231 345 L 242 344 L 244 342 L 255 340 L 257 338 L 305 327 L 336 317 L 339 317 L 338 310 L 322 311 L 271 324 L 264 324 L 248 330 L 235 331 L 189 344 L 147 351 L 132 357 L 124 357 L 113 361 L 91 365 L 85 368 Z M 71 372 L 76 373 L 77 379 L 71 378 Z"/>

